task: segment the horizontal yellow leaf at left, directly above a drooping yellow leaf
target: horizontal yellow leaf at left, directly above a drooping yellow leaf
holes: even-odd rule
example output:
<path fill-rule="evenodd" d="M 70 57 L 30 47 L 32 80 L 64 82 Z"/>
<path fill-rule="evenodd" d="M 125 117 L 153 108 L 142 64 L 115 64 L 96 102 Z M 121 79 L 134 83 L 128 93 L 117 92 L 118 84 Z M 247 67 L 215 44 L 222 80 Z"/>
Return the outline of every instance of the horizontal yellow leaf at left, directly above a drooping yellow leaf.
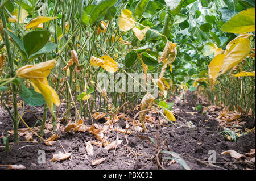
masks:
<path fill-rule="evenodd" d="M 56 64 L 53 59 L 36 65 L 26 65 L 17 70 L 17 75 L 22 78 L 45 78 Z"/>

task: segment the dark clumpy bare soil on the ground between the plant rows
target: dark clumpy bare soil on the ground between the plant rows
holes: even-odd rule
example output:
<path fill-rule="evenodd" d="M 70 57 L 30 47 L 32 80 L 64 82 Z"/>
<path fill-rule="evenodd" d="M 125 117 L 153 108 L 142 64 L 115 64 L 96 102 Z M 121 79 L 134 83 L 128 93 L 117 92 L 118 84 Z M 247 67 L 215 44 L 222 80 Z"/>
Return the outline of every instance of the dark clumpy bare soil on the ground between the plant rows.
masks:
<path fill-rule="evenodd" d="M 160 127 L 158 119 L 163 117 L 157 113 L 148 113 L 152 121 L 147 123 L 147 132 L 138 133 L 140 136 L 150 137 L 152 140 L 159 141 L 158 149 L 147 139 L 142 140 L 133 131 L 131 134 L 125 134 L 112 131 L 108 134 L 109 141 L 115 141 L 117 136 L 119 140 L 123 140 L 122 144 L 116 149 L 106 150 L 93 145 L 94 154 L 90 156 L 86 153 L 85 143 L 95 140 L 94 136 L 87 132 L 65 133 L 57 139 L 52 146 L 46 146 L 40 142 L 39 138 L 34 139 L 38 143 L 27 143 L 24 137 L 20 137 L 20 143 L 14 143 L 14 137 L 10 136 L 10 153 L 5 153 L 3 139 L 0 142 L 0 165 L 20 165 L 26 169 L 104 169 L 104 170 L 123 170 L 123 169 L 183 169 L 181 165 L 175 161 L 166 159 L 170 157 L 168 154 L 158 154 L 160 149 L 174 151 L 180 155 L 187 163 L 190 169 L 255 169 L 254 162 L 249 162 L 247 158 L 232 158 L 230 155 L 221 154 L 227 150 L 234 150 L 240 154 L 249 153 L 251 149 L 255 149 L 255 133 L 250 132 L 238 139 L 237 142 L 226 141 L 220 134 L 223 130 L 216 121 L 218 115 L 214 112 L 207 111 L 202 115 L 202 109 L 195 110 L 198 104 L 203 107 L 209 106 L 207 101 L 198 98 L 193 92 L 188 92 L 185 99 L 170 98 L 170 102 L 175 105 L 172 111 L 175 113 L 176 123 L 181 125 L 190 125 L 190 127 L 177 126 L 162 121 Z M 217 109 L 217 108 L 216 108 Z M 43 116 L 43 107 L 30 107 L 31 112 L 26 112 L 23 119 L 30 127 L 33 127 L 38 117 Z M 33 113 L 34 112 L 34 113 Z M 75 111 L 74 111 L 75 112 Z M 130 111 L 125 112 L 127 115 L 133 115 Z M 138 110 L 137 110 L 138 112 Z M 137 118 L 138 119 L 138 118 Z M 255 120 L 251 118 L 243 118 L 245 125 L 254 127 Z M 12 121 L 8 113 L 0 107 L 0 133 L 5 134 L 6 131 L 12 130 Z M 188 123 L 187 123 L 188 122 Z M 92 124 L 92 121 L 85 121 Z M 100 121 L 94 120 L 94 124 L 104 125 L 104 119 Z M 125 120 L 119 120 L 116 125 L 125 128 Z M 245 125 L 243 127 L 245 127 Z M 194 127 L 193 127 L 194 126 Z M 20 124 L 20 128 L 25 128 L 24 124 Z M 247 128 L 247 127 L 245 127 Z M 251 129 L 251 128 L 249 128 Z M 130 128 L 132 130 L 132 128 Z M 51 136 L 51 133 L 44 135 L 44 138 Z M 50 161 L 53 154 L 63 152 L 63 148 L 68 153 L 72 153 L 71 157 L 63 161 Z M 46 163 L 38 163 L 38 150 L 44 150 L 46 153 Z M 216 163 L 208 163 L 211 151 L 216 153 Z M 158 155 L 159 159 L 156 159 Z M 254 155 L 255 157 L 255 155 Z M 105 158 L 105 161 L 92 166 L 93 159 Z M 159 165 L 160 164 L 160 165 Z M 6 166 L 0 169 L 7 169 Z"/>

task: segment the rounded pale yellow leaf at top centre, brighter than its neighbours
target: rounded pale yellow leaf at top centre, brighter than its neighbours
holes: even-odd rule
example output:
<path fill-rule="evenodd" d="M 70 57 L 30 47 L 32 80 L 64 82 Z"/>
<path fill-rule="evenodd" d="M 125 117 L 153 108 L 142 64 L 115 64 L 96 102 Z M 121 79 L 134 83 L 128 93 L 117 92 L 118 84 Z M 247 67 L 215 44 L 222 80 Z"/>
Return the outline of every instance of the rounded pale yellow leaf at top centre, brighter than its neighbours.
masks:
<path fill-rule="evenodd" d="M 122 31 L 128 31 L 135 26 L 135 19 L 130 10 L 124 9 L 121 12 L 123 18 L 119 18 L 119 28 Z"/>

